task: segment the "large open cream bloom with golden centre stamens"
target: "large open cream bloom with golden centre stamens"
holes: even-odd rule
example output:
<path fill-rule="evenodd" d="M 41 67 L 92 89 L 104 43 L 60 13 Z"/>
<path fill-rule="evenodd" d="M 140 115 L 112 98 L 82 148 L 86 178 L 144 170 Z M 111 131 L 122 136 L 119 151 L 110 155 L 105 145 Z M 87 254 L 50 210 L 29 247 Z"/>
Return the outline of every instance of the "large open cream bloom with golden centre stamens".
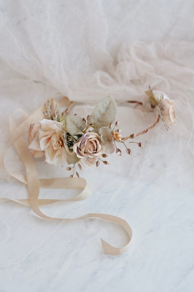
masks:
<path fill-rule="evenodd" d="M 50 164 L 63 165 L 67 158 L 67 150 L 64 147 L 62 123 L 43 119 L 37 137 L 29 145 L 33 150 L 45 152 L 45 161 Z M 60 144 L 59 144 L 60 141 Z"/>

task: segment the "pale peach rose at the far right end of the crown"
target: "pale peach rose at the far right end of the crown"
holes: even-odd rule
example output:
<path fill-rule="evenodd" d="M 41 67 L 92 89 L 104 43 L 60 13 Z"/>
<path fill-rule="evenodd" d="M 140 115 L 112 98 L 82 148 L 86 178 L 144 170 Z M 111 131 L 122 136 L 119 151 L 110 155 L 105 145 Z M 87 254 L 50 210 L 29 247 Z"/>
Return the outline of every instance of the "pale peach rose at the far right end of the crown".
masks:
<path fill-rule="evenodd" d="M 168 97 L 164 96 L 164 98 L 162 98 L 160 100 L 158 106 L 160 108 L 162 117 L 166 121 L 166 124 L 170 127 L 173 126 L 173 124 L 175 123 L 175 119 L 176 119 L 174 101 L 169 100 Z"/>

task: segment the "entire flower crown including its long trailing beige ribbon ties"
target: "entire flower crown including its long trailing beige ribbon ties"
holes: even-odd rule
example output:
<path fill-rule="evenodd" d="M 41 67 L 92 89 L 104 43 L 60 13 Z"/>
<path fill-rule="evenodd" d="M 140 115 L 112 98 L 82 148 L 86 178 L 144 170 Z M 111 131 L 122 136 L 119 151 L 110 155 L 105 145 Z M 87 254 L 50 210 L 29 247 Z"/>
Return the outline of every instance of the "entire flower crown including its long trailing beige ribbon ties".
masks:
<path fill-rule="evenodd" d="M 0 169 L 22 183 L 28 185 L 29 199 L 8 199 L 0 198 L 0 203 L 6 200 L 12 200 L 17 203 L 30 206 L 34 213 L 44 219 L 52 220 L 74 220 L 85 218 L 100 218 L 121 225 L 129 235 L 128 243 L 120 248 L 111 246 L 101 239 L 101 245 L 105 253 L 111 255 L 120 255 L 128 251 L 131 245 L 132 229 L 130 225 L 122 218 L 109 214 L 89 213 L 78 218 L 54 218 L 45 215 L 40 210 L 40 206 L 53 204 L 59 201 L 77 201 L 87 198 L 91 194 L 90 187 L 85 179 L 80 178 L 76 170 L 76 164 L 81 170 L 81 164 L 86 167 L 99 166 L 100 162 L 108 165 L 108 161 L 104 160 L 108 154 L 116 152 L 121 155 L 118 143 L 123 144 L 126 153 L 131 155 L 131 150 L 127 147 L 128 141 L 139 135 L 147 133 L 154 128 L 162 119 L 166 129 L 175 123 L 174 102 L 169 100 L 165 93 L 158 91 L 147 91 L 147 101 L 128 101 L 145 105 L 149 110 L 154 110 L 158 114 L 157 121 L 146 130 L 130 134 L 127 137 L 120 135 L 121 130 L 118 128 L 119 121 L 115 122 L 116 103 L 112 96 L 103 98 L 95 107 L 92 114 L 87 118 L 81 118 L 78 115 L 69 114 L 69 110 L 74 106 L 74 102 L 70 102 L 68 98 L 63 98 L 61 103 L 51 99 L 46 104 L 41 105 L 25 121 L 18 126 L 10 114 L 9 124 L 11 131 L 11 139 L 8 148 L 14 143 L 18 156 L 24 163 L 26 168 L 26 176 L 19 173 L 7 171 L 4 164 L 4 152 L 0 156 Z M 35 122 L 34 122 L 35 121 Z M 29 129 L 29 130 L 28 130 Z M 25 144 L 22 136 L 28 132 L 29 148 Z M 141 142 L 135 142 L 139 147 L 143 147 Z M 41 157 L 45 155 L 45 161 L 55 165 L 73 165 L 68 166 L 67 170 L 73 170 L 70 178 L 52 178 L 39 179 L 35 161 L 32 157 Z M 73 177 L 76 174 L 77 177 Z M 40 187 L 42 188 L 78 188 L 83 189 L 80 194 L 71 199 L 39 199 Z"/>

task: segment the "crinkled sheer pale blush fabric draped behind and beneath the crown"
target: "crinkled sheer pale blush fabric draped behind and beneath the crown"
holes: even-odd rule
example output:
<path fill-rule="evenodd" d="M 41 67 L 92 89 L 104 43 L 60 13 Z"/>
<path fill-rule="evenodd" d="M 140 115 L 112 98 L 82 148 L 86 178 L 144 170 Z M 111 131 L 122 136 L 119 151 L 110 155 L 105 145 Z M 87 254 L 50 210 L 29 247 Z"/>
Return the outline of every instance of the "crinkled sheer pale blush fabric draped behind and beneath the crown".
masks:
<path fill-rule="evenodd" d="M 181 11 L 177 15 L 172 1 L 159 1 L 160 12 L 156 2 L 2 1 L 1 152 L 10 137 L 9 112 L 19 107 L 30 114 L 57 92 L 77 101 L 74 112 L 85 118 L 98 100 L 112 94 L 122 135 L 138 133 L 151 126 L 157 115 L 125 101 L 142 101 L 150 85 L 175 101 L 176 125 L 167 132 L 160 121 L 135 138 L 144 144 L 143 149 L 130 144 L 132 156 L 121 149 L 122 156 L 110 155 L 110 166 L 102 166 L 103 171 L 130 180 L 165 183 L 168 179 L 193 188 L 193 183 L 188 184 L 193 181 L 194 156 L 193 1 L 187 6 L 176 1 Z M 162 4 L 168 6 L 166 13 Z M 161 40 L 164 37 L 168 40 Z M 24 173 L 14 150 L 8 153 L 9 171 Z M 43 159 L 36 161 L 42 178 L 69 175 L 56 166 L 45 170 Z M 96 171 L 92 169 L 93 176 Z M 86 168 L 81 176 L 87 180 L 87 175 L 91 170 Z M 0 178 L 11 180 L 3 173 Z"/>

